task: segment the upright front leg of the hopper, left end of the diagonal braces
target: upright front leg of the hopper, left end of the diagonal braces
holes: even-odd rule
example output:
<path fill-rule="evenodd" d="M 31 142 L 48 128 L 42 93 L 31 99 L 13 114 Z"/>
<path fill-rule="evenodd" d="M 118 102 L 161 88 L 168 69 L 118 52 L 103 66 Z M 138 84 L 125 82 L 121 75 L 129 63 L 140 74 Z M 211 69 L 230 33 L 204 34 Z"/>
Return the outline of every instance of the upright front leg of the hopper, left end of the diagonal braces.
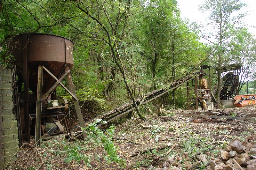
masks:
<path fill-rule="evenodd" d="M 41 113 L 42 113 L 42 88 L 43 88 L 43 64 L 38 65 L 37 95 L 36 95 L 36 134 L 35 146 L 40 145 L 41 137 Z"/>

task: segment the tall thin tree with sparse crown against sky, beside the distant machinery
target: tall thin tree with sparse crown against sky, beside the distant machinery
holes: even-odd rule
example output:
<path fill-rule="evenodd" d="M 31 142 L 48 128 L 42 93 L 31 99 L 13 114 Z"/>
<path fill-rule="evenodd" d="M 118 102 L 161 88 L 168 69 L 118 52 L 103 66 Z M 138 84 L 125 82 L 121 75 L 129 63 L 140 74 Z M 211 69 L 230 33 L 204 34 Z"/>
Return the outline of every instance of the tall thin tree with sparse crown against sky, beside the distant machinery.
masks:
<path fill-rule="evenodd" d="M 245 4 L 240 0 L 207 0 L 201 6 L 202 11 L 209 13 L 208 19 L 211 21 L 209 24 L 212 26 L 212 31 L 208 33 L 212 40 L 206 36 L 204 38 L 218 47 L 215 53 L 216 57 L 212 58 L 217 67 L 217 107 L 220 102 L 221 68 L 224 63 L 230 62 L 225 57 L 228 53 L 230 33 L 232 28 L 239 25 L 241 18 L 244 17 L 244 14 L 235 14 L 235 12 L 240 11 L 244 6 Z"/>

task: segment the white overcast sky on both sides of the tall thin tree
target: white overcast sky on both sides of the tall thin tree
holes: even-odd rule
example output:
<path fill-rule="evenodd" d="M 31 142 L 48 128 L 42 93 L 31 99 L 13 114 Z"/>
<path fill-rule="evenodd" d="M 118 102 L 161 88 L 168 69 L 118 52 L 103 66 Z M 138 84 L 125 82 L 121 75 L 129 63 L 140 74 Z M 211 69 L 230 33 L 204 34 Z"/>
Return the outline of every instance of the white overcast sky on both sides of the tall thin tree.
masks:
<path fill-rule="evenodd" d="M 198 6 L 203 4 L 206 0 L 177 0 L 180 8 L 180 15 L 182 18 L 188 18 L 190 22 L 197 21 L 198 24 L 204 24 L 205 16 L 198 10 Z M 247 4 L 243 10 L 248 11 L 244 22 L 249 31 L 256 35 L 256 0 L 244 0 Z"/>

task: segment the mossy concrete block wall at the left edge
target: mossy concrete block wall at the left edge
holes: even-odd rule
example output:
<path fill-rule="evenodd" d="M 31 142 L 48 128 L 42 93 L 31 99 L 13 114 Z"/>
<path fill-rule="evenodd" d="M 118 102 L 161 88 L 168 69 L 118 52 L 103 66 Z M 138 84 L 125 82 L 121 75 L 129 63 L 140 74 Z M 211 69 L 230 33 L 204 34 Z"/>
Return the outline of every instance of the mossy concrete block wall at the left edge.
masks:
<path fill-rule="evenodd" d="M 0 67 L 1 165 L 17 158 L 18 125 L 12 114 L 12 71 Z M 10 161 L 10 162 L 11 162 Z"/>

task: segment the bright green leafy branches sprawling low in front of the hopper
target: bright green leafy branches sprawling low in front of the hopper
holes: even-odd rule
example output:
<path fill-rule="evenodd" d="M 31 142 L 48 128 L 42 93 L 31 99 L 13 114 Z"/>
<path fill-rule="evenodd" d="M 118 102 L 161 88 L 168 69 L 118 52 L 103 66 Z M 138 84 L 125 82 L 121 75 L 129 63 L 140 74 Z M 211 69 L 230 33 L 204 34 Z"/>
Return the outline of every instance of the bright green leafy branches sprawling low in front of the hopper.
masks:
<path fill-rule="evenodd" d="M 107 155 L 104 156 L 107 163 L 114 161 L 120 166 L 125 166 L 125 160 L 117 155 L 116 147 L 112 141 L 115 126 L 111 125 L 109 129 L 102 130 L 97 127 L 97 123 L 107 122 L 97 119 L 95 122 L 90 123 L 85 129 L 82 129 L 83 131 L 86 130 L 86 133 L 88 134 L 87 139 L 84 141 L 67 142 L 66 140 L 63 140 L 62 142 L 59 142 L 52 140 L 43 143 L 42 148 L 47 151 L 43 154 L 43 158 L 45 158 L 44 161 L 46 161 L 45 163 L 49 163 L 48 165 L 51 166 L 50 160 L 52 160 L 52 157 L 49 157 L 49 155 L 51 155 L 50 152 L 52 152 L 54 155 L 63 157 L 65 163 L 75 160 L 80 164 L 83 160 L 88 167 L 92 167 L 90 162 L 93 159 L 93 155 L 85 154 L 85 152 L 90 149 L 88 145 L 92 145 L 92 147 L 103 146 L 107 153 Z M 52 149 L 53 146 L 55 149 Z M 94 159 L 100 161 L 98 155 L 95 155 Z M 49 160 L 49 162 L 47 162 L 47 160 Z"/>

